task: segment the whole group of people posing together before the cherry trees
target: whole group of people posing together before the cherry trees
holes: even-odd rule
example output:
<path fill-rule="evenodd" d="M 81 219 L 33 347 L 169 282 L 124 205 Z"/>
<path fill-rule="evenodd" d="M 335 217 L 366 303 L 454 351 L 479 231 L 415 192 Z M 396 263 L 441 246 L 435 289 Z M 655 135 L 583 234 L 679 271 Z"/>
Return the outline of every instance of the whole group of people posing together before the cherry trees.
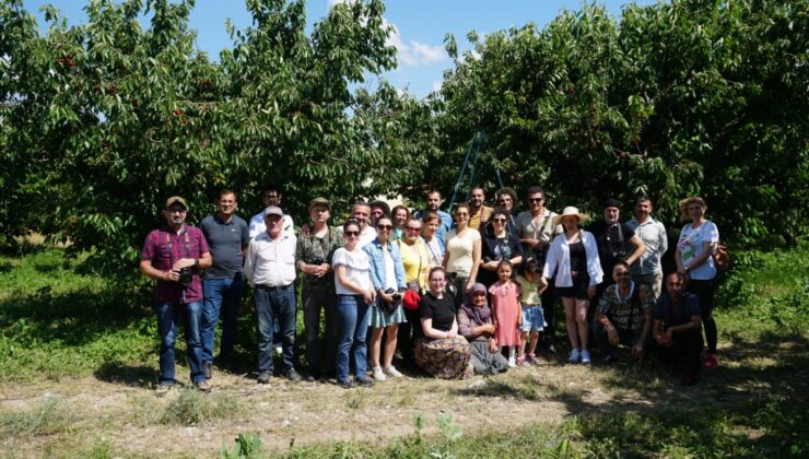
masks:
<path fill-rule="evenodd" d="M 648 197 L 635 201 L 625 223 L 621 203 L 608 199 L 603 220 L 588 226 L 589 215 L 574 207 L 561 214 L 546 209 L 538 186 L 526 191 L 521 212 L 513 189 L 497 190 L 490 208 L 476 187 L 453 215 L 439 210 L 441 193 L 432 191 L 412 213 L 356 201 L 340 226 L 329 223 L 331 202 L 315 198 L 310 223 L 297 234 L 280 190 L 267 187 L 261 198 L 263 210 L 248 223 L 235 213 L 236 193 L 223 190 L 218 211 L 195 227 L 186 224 L 186 200 L 172 197 L 163 211 L 167 225 L 146 236 L 140 269 L 156 280 L 159 389 L 175 384 L 181 322 L 191 382 L 211 390 L 214 332 L 221 319 L 218 366 L 226 367 L 245 282 L 255 298 L 258 382 L 277 373 L 275 352 L 278 373 L 303 379 L 295 355 L 298 276 L 306 378 L 335 378 L 343 388 L 401 377 L 397 351 L 400 366 L 441 378 L 539 364 L 541 350 L 556 352 L 556 298 L 570 363 L 590 364 L 593 340 L 607 363 L 619 345 L 636 357 L 654 351 L 681 360 L 685 384 L 696 382 L 703 366 L 718 365 L 712 317 L 718 231 L 699 197 L 681 202 L 688 224 L 665 290 L 668 237 Z"/>

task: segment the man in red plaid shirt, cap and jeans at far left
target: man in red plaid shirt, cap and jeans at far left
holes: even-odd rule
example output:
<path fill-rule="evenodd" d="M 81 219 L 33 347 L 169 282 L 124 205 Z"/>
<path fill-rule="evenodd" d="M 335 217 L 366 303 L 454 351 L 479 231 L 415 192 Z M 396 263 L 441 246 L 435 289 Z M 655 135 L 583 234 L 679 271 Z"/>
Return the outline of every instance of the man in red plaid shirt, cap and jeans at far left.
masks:
<path fill-rule="evenodd" d="M 186 356 L 194 386 L 208 392 L 202 369 L 202 282 L 200 270 L 211 266 L 211 254 L 202 232 L 185 224 L 188 203 L 173 196 L 166 201 L 163 216 L 166 226 L 146 236 L 140 256 L 140 271 L 157 281 L 154 287 L 154 307 L 160 334 L 160 379 L 157 389 L 166 391 L 174 386 L 174 341 L 177 321 L 183 317 L 186 334 Z"/>

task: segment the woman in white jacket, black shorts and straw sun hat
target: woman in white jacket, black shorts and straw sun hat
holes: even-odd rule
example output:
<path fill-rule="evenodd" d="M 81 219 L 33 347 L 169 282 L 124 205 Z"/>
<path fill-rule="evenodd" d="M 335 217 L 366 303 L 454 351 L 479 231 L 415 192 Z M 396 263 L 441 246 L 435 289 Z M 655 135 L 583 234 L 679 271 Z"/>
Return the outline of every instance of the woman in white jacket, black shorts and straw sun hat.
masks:
<path fill-rule="evenodd" d="M 571 340 L 571 355 L 567 361 L 581 361 L 585 365 L 590 364 L 587 307 L 596 295 L 596 285 L 603 278 L 596 238 L 581 227 L 588 219 L 588 215 L 578 213 L 578 209 L 573 207 L 564 208 L 562 214 L 553 219 L 554 225 L 562 223 L 564 233 L 551 243 L 540 281 L 541 289 L 544 290 L 548 280 L 555 274 L 556 295 L 562 298 L 567 338 Z"/>

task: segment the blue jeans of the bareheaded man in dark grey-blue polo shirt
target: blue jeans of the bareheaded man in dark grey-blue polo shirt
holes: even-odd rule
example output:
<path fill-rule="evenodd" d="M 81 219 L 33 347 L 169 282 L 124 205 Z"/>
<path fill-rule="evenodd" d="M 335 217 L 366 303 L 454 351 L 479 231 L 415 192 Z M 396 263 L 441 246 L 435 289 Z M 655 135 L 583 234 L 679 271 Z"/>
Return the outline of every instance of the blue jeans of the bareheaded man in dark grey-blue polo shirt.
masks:
<path fill-rule="evenodd" d="M 204 307 L 202 308 L 202 362 L 213 361 L 213 334 L 216 322 L 222 317 L 222 341 L 219 345 L 219 356 L 227 358 L 233 351 L 233 340 L 236 334 L 238 319 L 238 302 L 242 299 L 244 282 L 243 274 L 236 273 L 232 279 L 206 279 L 202 281 Z"/>

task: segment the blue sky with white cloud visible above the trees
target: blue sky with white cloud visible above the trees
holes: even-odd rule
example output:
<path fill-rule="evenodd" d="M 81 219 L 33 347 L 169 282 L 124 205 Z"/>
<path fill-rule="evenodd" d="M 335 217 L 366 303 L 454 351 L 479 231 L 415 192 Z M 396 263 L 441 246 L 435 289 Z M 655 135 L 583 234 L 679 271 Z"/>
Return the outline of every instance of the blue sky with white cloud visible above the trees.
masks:
<path fill-rule="evenodd" d="M 324 17 L 329 8 L 342 0 L 308 0 L 306 3 L 309 26 Z M 608 11 L 620 16 L 621 8 L 632 0 L 600 0 Z M 655 0 L 634 0 L 649 4 Z M 24 0 L 25 9 L 36 14 L 44 28 L 43 4 L 59 9 L 70 24 L 86 21 L 82 11 L 85 0 Z M 145 3 L 145 0 L 144 0 Z M 455 35 L 458 50 L 471 48 L 466 36 L 476 31 L 480 36 L 488 33 L 521 27 L 529 22 L 539 28 L 553 20 L 562 10 L 577 11 L 586 1 L 582 0 L 388 0 L 385 20 L 395 27 L 389 44 L 398 49 L 398 68 L 382 78 L 394 86 L 418 97 L 425 97 L 441 87 L 443 72 L 453 68 L 453 61 L 444 50 L 446 34 Z M 220 50 L 231 47 L 225 31 L 225 20 L 231 19 L 237 28 L 251 24 L 251 17 L 242 0 L 197 0 L 190 15 L 190 28 L 198 33 L 197 45 L 216 59 Z M 144 24 L 145 25 L 145 24 Z M 373 81 L 371 82 L 373 84 Z"/>

